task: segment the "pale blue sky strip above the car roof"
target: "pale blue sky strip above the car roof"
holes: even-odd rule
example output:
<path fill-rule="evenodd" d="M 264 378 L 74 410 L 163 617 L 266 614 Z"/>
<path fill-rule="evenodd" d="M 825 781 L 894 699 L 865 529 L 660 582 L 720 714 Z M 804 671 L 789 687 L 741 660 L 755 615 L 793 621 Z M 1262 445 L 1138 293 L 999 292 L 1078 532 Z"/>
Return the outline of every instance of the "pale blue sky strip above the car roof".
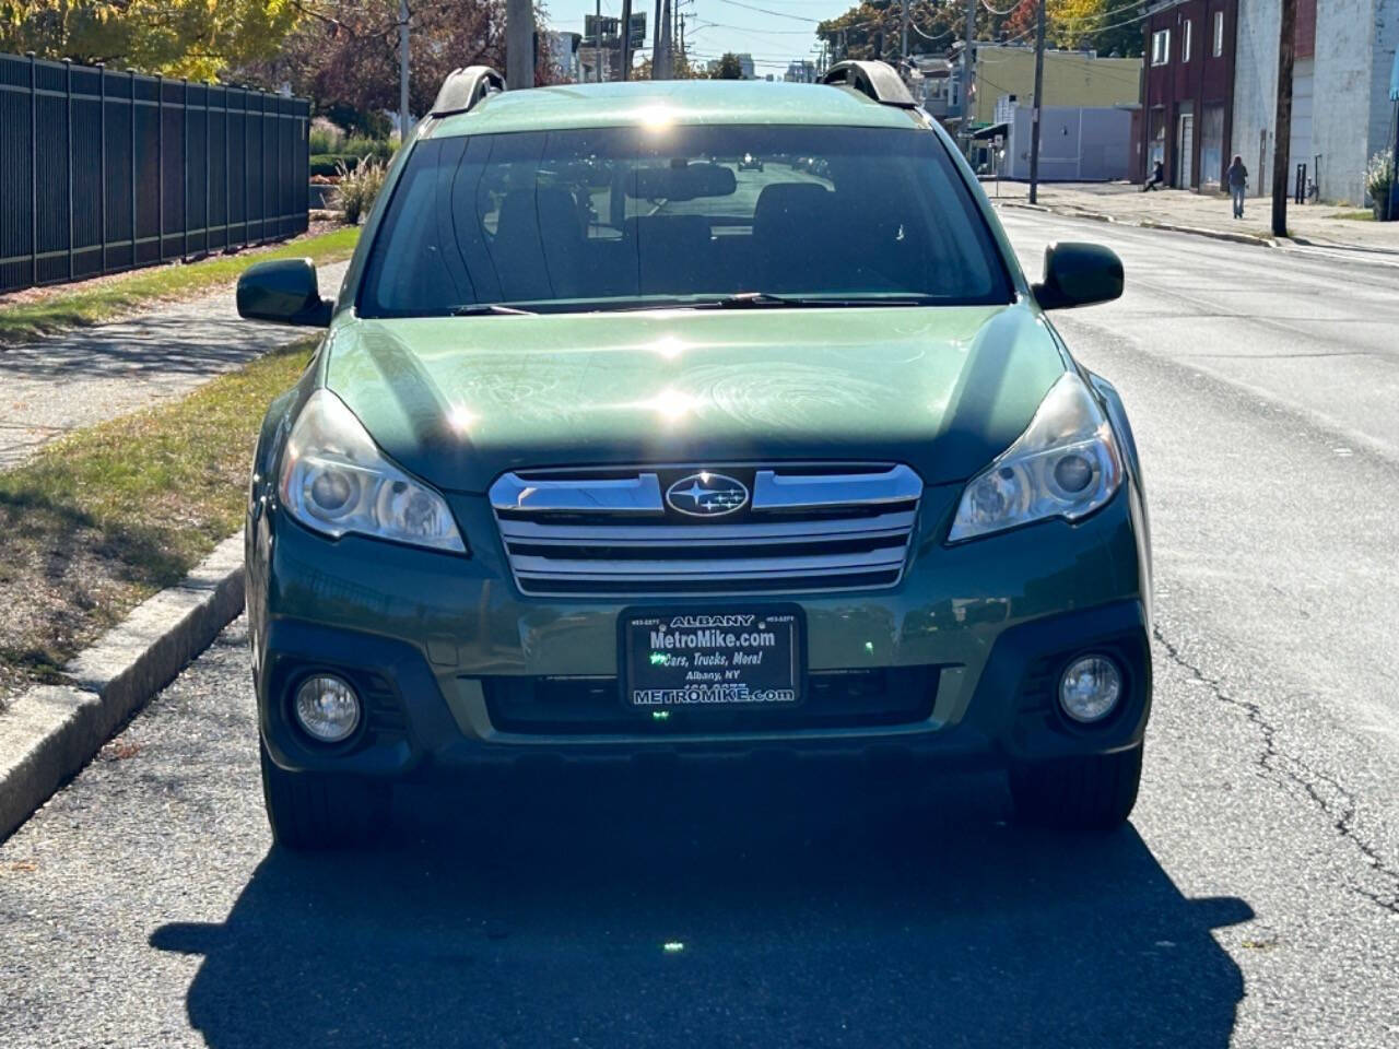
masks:
<path fill-rule="evenodd" d="M 596 0 L 546 0 L 546 4 L 551 27 L 561 32 L 582 32 L 583 14 L 596 10 Z M 816 24 L 852 6 L 851 0 L 683 0 L 680 14 L 691 59 L 704 62 L 726 50 L 747 52 L 760 77 L 774 73 L 781 80 L 789 62 L 816 57 Z M 621 0 L 602 0 L 602 10 L 616 18 L 621 15 Z M 632 0 L 632 10 L 646 11 L 644 53 L 649 55 L 655 0 Z"/>

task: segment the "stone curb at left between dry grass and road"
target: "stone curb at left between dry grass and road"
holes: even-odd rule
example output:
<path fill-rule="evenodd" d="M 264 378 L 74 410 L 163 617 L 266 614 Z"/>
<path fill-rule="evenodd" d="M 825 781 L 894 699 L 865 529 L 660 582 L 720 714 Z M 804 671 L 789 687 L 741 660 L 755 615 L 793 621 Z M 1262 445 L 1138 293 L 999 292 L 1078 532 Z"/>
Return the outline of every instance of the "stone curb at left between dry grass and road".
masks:
<path fill-rule="evenodd" d="M 28 820 L 126 720 L 243 610 L 243 534 L 225 538 L 178 586 L 143 601 L 0 716 L 0 841 Z"/>

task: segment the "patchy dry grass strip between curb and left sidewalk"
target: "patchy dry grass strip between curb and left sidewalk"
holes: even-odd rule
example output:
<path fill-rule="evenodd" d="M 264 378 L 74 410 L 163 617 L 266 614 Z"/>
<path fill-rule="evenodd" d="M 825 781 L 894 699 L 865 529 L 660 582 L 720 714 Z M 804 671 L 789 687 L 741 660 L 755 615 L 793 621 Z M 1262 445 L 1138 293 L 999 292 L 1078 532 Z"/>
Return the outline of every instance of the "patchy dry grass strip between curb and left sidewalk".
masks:
<path fill-rule="evenodd" d="M 60 669 L 242 524 L 267 403 L 306 340 L 0 473 L 0 699 Z"/>

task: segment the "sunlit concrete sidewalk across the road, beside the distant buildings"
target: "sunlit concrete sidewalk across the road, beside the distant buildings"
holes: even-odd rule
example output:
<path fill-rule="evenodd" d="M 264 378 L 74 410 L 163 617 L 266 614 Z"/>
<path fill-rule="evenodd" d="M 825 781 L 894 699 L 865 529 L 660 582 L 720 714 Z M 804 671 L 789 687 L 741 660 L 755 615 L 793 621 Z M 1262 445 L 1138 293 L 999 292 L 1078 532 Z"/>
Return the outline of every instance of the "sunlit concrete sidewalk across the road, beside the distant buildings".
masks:
<path fill-rule="evenodd" d="M 982 187 L 995 203 L 1024 204 L 1030 199 L 1030 187 L 1023 182 L 997 185 L 995 180 L 982 180 Z M 1244 218 L 1235 220 L 1230 199 L 1223 194 L 1181 189 L 1143 193 L 1140 186 L 1125 182 L 1080 182 L 1041 185 L 1039 206 L 1080 218 L 1105 218 L 1132 225 L 1160 225 L 1231 239 L 1273 242 L 1270 197 L 1249 197 Z M 1288 201 L 1287 231 L 1301 243 L 1399 255 L 1399 222 L 1349 217 L 1360 213 L 1361 208 L 1356 207 Z"/>

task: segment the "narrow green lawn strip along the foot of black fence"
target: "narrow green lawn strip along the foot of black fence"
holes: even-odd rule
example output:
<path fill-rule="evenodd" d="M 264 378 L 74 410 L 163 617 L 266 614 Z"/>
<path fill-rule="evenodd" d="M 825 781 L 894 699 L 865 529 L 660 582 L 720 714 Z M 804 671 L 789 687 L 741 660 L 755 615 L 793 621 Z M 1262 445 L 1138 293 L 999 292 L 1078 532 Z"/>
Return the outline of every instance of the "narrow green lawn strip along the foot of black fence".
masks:
<path fill-rule="evenodd" d="M 0 306 L 0 341 L 22 341 L 81 324 L 95 324 L 130 313 L 137 306 L 179 298 L 220 284 L 229 284 L 255 262 L 309 256 L 318 263 L 350 257 L 358 227 L 344 227 L 319 236 L 288 241 L 271 250 L 227 255 L 187 266 L 158 266 L 134 270 L 111 280 L 71 288 L 55 288 L 28 302 Z"/>

